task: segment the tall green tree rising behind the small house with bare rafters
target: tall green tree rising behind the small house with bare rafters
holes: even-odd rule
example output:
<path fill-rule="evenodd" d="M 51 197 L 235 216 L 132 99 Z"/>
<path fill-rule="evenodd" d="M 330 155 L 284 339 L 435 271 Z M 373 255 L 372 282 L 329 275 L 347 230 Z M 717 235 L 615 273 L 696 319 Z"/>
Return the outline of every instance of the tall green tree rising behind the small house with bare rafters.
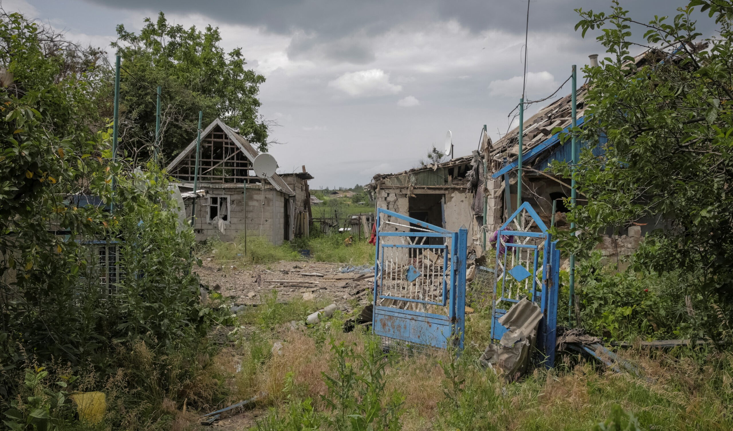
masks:
<path fill-rule="evenodd" d="M 258 114 L 257 94 L 265 77 L 245 68 L 240 48 L 228 54 L 218 28 L 185 29 L 171 25 L 163 12 L 145 18 L 139 34 L 117 26 L 112 43 L 122 57 L 121 148 L 135 160 L 150 157 L 155 142 L 156 89 L 161 95 L 161 142 L 170 158 L 196 136 L 199 111 L 204 124 L 221 117 L 248 141 L 265 151 L 268 122 Z"/>

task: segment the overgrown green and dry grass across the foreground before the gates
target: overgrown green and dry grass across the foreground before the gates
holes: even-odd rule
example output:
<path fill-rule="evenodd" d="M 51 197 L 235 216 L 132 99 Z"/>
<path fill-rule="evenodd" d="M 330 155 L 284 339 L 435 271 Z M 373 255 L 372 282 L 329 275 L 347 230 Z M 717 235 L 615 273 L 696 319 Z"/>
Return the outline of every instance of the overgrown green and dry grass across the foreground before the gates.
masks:
<path fill-rule="evenodd" d="M 109 405 L 97 427 L 74 421 L 69 405 L 62 429 L 181 431 L 198 418 L 196 410 L 263 392 L 258 405 L 270 412 L 257 431 L 361 429 L 351 419 L 364 424 L 372 420 L 369 411 L 379 429 L 408 431 L 592 430 L 609 416 L 628 415 L 639 424 L 629 430 L 733 428 L 733 353 L 707 347 L 622 352 L 644 377 L 566 356 L 553 370 L 531 369 L 506 383 L 477 361 L 488 330 L 481 310 L 467 320 L 467 348 L 457 359 L 452 353 L 405 358 L 384 356 L 378 339 L 363 328 L 343 333 L 347 316 L 340 312 L 318 325 L 292 328 L 291 320 L 302 321 L 323 305 L 266 295 L 237 317 L 232 347 L 202 344 L 163 357 L 143 342 L 121 345 L 118 371 L 104 381 L 91 371 L 54 365 L 48 382 L 73 372 L 81 376 L 74 390 L 102 390 Z M 276 342 L 281 347 L 273 349 Z M 174 384 L 163 391 L 161 379 Z"/>

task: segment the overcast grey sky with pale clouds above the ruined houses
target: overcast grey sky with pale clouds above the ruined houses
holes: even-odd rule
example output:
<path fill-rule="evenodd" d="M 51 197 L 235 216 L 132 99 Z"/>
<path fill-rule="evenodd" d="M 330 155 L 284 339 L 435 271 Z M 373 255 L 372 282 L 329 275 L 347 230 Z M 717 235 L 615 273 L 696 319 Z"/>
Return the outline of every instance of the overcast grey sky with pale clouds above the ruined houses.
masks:
<path fill-rule="evenodd" d="M 622 1 L 638 21 L 674 15 L 685 0 Z M 603 54 L 573 27 L 573 9 L 610 0 L 530 0 L 526 97 L 553 92 L 570 67 Z M 229 51 L 267 78 L 261 113 L 279 127 L 270 151 L 280 172 L 312 187 L 369 183 L 419 165 L 452 130 L 456 156 L 496 140 L 522 92 L 526 0 L 4 0 L 6 10 L 108 48 L 115 26 L 139 30 L 166 13 L 183 26 L 221 30 Z M 111 51 L 109 51 L 111 52 Z M 632 54 L 638 54 L 633 51 Z M 582 80 L 581 80 L 582 82 Z M 559 95 L 570 92 L 566 86 Z M 530 112 L 531 114 L 531 112 Z"/>

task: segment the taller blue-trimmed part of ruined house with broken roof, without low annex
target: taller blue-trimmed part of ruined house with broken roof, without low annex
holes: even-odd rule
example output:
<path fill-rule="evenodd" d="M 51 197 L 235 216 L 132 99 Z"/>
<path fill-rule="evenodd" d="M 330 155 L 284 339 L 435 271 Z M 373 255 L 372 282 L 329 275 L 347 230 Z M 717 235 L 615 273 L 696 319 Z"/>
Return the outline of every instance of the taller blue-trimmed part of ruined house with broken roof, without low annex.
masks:
<path fill-rule="evenodd" d="M 706 45 L 696 45 L 702 49 Z M 669 61 L 671 54 L 662 50 L 649 50 L 636 56 L 637 67 L 654 64 L 662 60 Z M 592 62 L 594 56 L 591 56 Z M 576 118 L 579 127 L 585 127 L 586 103 L 584 101 L 589 84 L 584 84 L 576 92 Z M 552 133 L 556 128 L 564 132 L 570 130 L 572 118 L 571 95 L 555 100 L 523 124 L 522 151 L 522 202 L 534 207 L 540 218 L 550 226 L 554 221 L 559 229 L 569 229 L 564 214 L 567 208 L 563 199 L 570 197 L 570 180 L 545 171 L 553 161 L 572 161 L 572 143 L 570 139 L 562 142 L 559 133 Z M 519 128 L 515 128 L 496 141 L 483 139 L 482 159 L 486 161 L 486 220 L 485 231 L 494 232 L 507 220 L 517 208 L 517 156 Z M 583 148 L 590 148 L 594 155 L 602 156 L 607 140 L 600 137 L 597 142 L 578 142 L 578 153 Z M 479 193 L 481 190 L 479 189 Z M 578 205 L 586 202 L 586 196 L 578 194 Z M 554 204 L 554 205 L 553 205 Z M 554 211 L 553 211 L 554 208 Z M 633 254 L 647 232 L 660 228 L 665 222 L 655 218 L 642 218 L 630 226 L 614 226 L 602 235 L 600 248 L 605 257 L 612 262 L 620 263 L 619 257 Z"/>

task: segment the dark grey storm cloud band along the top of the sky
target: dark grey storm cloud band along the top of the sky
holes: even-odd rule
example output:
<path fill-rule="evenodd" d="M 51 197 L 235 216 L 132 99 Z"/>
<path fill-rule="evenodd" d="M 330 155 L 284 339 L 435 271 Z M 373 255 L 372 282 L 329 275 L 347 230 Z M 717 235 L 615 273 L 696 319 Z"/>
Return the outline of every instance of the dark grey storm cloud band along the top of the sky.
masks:
<path fill-rule="evenodd" d="M 258 26 L 276 34 L 295 35 L 287 50 L 291 58 L 303 56 L 367 64 L 375 59 L 372 37 L 397 26 L 419 29 L 433 21 L 455 20 L 471 32 L 487 29 L 523 33 L 527 2 L 524 0 L 87 0 L 125 10 L 199 13 L 222 23 Z M 633 16 L 674 15 L 677 1 L 627 1 Z M 680 1 L 679 3 L 682 3 Z M 610 0 L 531 0 L 533 32 L 572 32 L 578 21 L 576 7 L 606 10 Z"/>

